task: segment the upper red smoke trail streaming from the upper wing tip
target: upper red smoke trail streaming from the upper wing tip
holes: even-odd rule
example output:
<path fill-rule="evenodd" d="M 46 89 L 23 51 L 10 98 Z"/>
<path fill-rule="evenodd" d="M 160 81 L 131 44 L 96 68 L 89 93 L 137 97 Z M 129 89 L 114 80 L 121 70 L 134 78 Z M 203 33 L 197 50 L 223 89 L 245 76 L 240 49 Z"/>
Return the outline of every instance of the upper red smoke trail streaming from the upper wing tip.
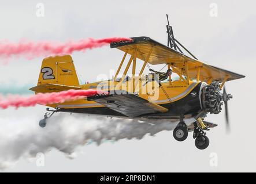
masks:
<path fill-rule="evenodd" d="M 56 43 L 53 41 L 20 41 L 20 43 L 9 43 L 0 41 L 0 57 L 8 58 L 10 56 L 25 56 L 32 59 L 38 56 L 64 55 L 71 54 L 74 51 L 85 51 L 102 47 L 118 41 L 132 41 L 125 37 L 109 37 L 105 39 L 86 39 L 80 41 L 67 41 L 66 43 Z"/>

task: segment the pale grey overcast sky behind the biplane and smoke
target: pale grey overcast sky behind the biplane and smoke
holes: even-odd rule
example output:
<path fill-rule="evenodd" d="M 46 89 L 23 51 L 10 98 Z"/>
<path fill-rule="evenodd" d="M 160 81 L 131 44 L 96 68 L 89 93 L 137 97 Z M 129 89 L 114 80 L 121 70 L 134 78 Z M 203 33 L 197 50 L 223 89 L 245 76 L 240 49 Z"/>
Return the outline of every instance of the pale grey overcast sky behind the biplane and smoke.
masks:
<path fill-rule="evenodd" d="M 166 44 L 168 13 L 176 38 L 199 60 L 246 75 L 227 83 L 227 90 L 233 95 L 229 101 L 231 133 L 225 133 L 224 113 L 207 116 L 206 120 L 218 127 L 207 132 L 210 145 L 206 150 L 195 148 L 192 133 L 180 143 L 173 139 L 172 131 L 163 131 L 142 140 L 79 145 L 75 159 L 52 149 L 46 152 L 44 167 L 37 167 L 35 160 L 29 161 L 24 155 L 4 171 L 256 171 L 254 1 L 40 1 L 44 4 L 44 17 L 36 17 L 39 2 L 0 2 L 0 40 L 15 42 L 149 36 Z M 213 2 L 218 5 L 217 17 L 209 16 Z M 110 47 L 72 55 L 80 78 L 90 82 L 96 81 L 98 74 L 109 75 L 109 70 L 116 70 L 121 56 L 121 51 Z M 42 59 L 9 59 L 9 64 L 0 67 L 1 86 L 35 86 Z M 27 133 L 24 135 L 29 135 L 29 130 L 38 131 L 42 135 L 42 129 L 34 126 L 44 110 L 43 106 L 1 110 L 1 145 L 5 145 L 3 140 L 12 140 L 12 133 L 17 131 Z M 45 136 L 47 139 L 53 135 Z M 12 145 L 15 144 L 20 143 Z M 1 149 L 11 149 L 8 144 L 1 145 Z M 218 155 L 217 167 L 209 164 L 213 152 Z"/>

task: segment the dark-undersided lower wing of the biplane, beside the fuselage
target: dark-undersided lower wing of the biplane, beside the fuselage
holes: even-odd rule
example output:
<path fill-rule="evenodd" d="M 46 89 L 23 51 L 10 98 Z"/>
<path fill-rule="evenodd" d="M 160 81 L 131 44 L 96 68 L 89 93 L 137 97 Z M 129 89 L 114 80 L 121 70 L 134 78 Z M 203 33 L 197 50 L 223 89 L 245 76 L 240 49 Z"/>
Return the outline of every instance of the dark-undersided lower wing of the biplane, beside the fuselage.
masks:
<path fill-rule="evenodd" d="M 168 109 L 154 104 L 153 102 L 149 102 L 134 94 L 113 94 L 99 97 L 87 97 L 87 99 L 88 101 L 92 100 L 102 104 L 107 108 L 115 110 L 116 112 L 128 117 L 168 111 Z"/>

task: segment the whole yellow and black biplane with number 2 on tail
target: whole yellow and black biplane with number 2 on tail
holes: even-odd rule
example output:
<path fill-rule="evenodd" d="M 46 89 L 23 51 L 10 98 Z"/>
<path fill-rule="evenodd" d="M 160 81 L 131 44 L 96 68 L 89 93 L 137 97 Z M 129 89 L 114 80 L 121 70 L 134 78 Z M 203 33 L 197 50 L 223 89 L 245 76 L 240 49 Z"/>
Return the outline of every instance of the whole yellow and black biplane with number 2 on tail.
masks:
<path fill-rule="evenodd" d="M 225 88 L 221 93 L 221 89 L 225 82 L 244 78 L 244 75 L 196 59 L 175 39 L 169 22 L 166 26 L 169 47 L 149 37 L 132 37 L 133 41 L 111 43 L 110 47 L 120 49 L 124 52 L 124 56 L 116 75 L 110 80 L 80 85 L 72 57 L 54 56 L 43 59 L 38 85 L 30 90 L 35 93 L 69 89 L 109 91 L 108 95 L 95 95 L 62 104 L 47 105 L 54 108 L 47 110 L 52 111 L 52 114 L 54 112 L 87 113 L 153 123 L 159 120 L 177 120 L 177 127 L 173 131 L 175 139 L 184 141 L 188 132 L 194 131 L 195 145 L 203 150 L 209 145 L 205 130 L 217 126 L 204 121 L 203 118 L 207 113 L 220 113 L 224 102 L 228 125 L 227 101 L 232 95 L 227 94 Z M 181 48 L 193 58 L 185 55 Z M 143 64 L 136 73 L 139 62 Z M 159 81 L 158 74 L 143 74 L 145 67 L 150 68 L 157 64 L 165 64 L 166 68 L 172 70 L 172 75 L 168 75 L 165 81 Z M 123 75 L 118 77 L 123 66 Z M 132 74 L 128 75 L 130 67 Z M 46 113 L 44 119 L 39 122 L 40 127 L 46 126 L 47 118 L 49 116 Z M 187 119 L 192 121 L 186 122 Z"/>

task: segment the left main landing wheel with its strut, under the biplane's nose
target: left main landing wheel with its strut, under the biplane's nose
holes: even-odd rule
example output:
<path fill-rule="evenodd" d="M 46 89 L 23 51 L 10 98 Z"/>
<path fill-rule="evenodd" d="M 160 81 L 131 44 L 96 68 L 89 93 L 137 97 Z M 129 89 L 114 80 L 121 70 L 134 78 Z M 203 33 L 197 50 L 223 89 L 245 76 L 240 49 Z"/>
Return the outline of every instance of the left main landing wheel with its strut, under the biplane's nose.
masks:
<path fill-rule="evenodd" d="M 183 118 L 183 116 L 180 116 L 180 122 L 173 131 L 173 137 L 177 141 L 184 141 L 188 137 L 187 125 L 185 124 Z"/>

